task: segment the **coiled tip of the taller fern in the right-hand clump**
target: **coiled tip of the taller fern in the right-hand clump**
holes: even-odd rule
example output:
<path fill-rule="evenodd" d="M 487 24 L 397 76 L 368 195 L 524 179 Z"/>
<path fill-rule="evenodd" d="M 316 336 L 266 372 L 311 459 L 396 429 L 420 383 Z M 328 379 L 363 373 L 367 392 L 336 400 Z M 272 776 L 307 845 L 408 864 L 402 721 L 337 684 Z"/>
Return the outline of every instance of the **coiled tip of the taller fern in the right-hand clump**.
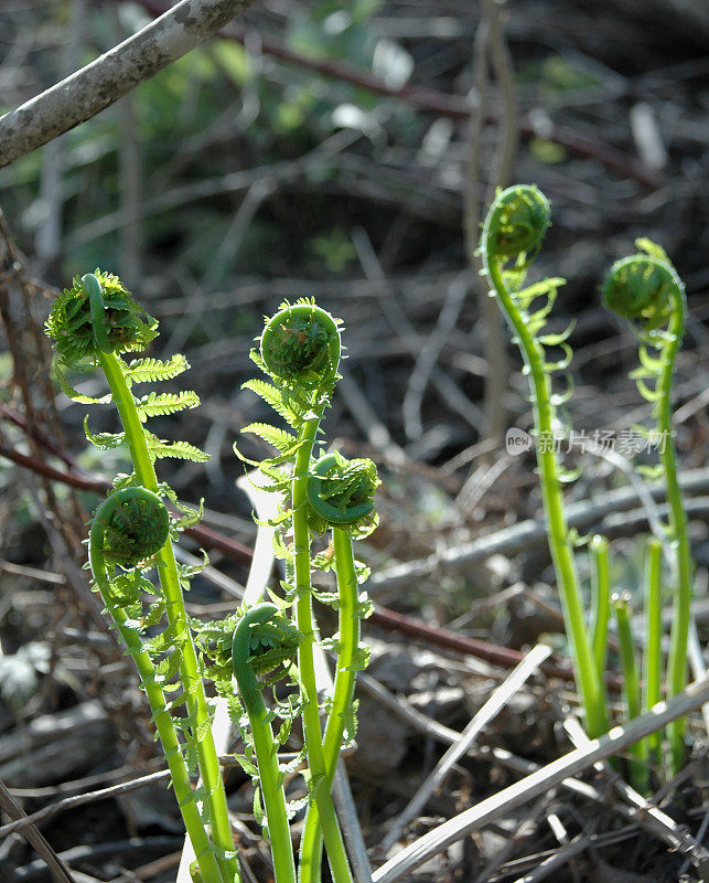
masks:
<path fill-rule="evenodd" d="M 539 249 L 551 210 L 534 185 L 516 184 L 495 196 L 483 230 L 483 247 L 490 260 L 516 259 Z"/>

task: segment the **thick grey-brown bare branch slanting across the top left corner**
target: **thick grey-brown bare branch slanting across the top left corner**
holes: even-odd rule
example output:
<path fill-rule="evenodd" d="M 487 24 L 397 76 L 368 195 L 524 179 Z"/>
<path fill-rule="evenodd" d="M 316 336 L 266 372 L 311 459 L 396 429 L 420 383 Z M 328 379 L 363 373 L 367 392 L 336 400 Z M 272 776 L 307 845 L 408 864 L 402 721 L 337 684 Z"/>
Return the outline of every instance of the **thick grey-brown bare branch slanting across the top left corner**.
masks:
<path fill-rule="evenodd" d="M 96 116 L 254 0 L 182 0 L 110 52 L 0 117 L 0 168 Z"/>

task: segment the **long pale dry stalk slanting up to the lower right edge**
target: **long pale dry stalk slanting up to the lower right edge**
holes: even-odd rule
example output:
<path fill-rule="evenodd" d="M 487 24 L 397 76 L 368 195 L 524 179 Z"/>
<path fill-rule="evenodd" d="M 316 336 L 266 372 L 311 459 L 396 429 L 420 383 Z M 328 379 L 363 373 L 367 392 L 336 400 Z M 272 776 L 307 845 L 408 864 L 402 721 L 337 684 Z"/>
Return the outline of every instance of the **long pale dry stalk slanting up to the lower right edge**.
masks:
<path fill-rule="evenodd" d="M 569 776 L 588 769 L 598 760 L 617 754 L 670 721 L 683 717 L 689 711 L 699 708 L 707 700 L 709 700 L 709 674 L 691 683 L 669 702 L 658 703 L 646 714 L 635 717 L 625 726 L 614 727 L 604 736 L 590 742 L 588 746 L 570 752 L 537 773 L 504 788 L 499 794 L 439 826 L 375 871 L 374 883 L 394 883 L 396 880 L 401 880 L 432 855 L 439 854 L 471 831 L 479 830 L 512 808 L 534 799 Z"/>

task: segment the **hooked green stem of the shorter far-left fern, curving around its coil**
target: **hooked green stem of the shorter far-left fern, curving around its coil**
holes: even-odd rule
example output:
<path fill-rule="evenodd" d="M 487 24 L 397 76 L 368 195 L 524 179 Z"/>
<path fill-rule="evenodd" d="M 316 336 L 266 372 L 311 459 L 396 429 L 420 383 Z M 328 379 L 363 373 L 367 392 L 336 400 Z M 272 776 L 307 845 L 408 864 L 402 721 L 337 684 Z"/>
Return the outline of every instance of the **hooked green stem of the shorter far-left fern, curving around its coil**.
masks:
<path fill-rule="evenodd" d="M 170 769 L 172 787 L 180 806 L 180 812 L 197 858 L 204 883 L 225 883 L 193 798 L 192 784 L 182 756 L 180 740 L 166 706 L 165 695 L 157 680 L 154 666 L 148 653 L 142 649 L 140 634 L 130 625 L 126 611 L 117 606 L 111 597 L 107 573 L 108 564 L 104 555 L 105 530 L 116 508 L 127 500 L 135 499 L 142 499 L 152 504 L 157 502 L 159 507 L 162 507 L 160 499 L 144 488 L 128 488 L 116 491 L 105 500 L 96 511 L 89 532 L 88 557 L 92 573 L 106 609 L 116 623 L 118 631 L 128 648 L 128 653 L 132 657 L 138 669 L 141 685 L 146 691 L 152 712 L 152 720 L 155 723 L 155 730 Z"/>

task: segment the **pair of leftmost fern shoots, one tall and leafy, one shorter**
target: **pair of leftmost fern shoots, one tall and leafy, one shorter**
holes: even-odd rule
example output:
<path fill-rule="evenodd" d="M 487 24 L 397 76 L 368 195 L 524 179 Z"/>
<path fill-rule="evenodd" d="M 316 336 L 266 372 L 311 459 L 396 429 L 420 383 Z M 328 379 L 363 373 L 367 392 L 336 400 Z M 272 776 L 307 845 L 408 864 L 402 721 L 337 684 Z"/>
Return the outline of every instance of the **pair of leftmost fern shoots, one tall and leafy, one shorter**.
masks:
<path fill-rule="evenodd" d="M 178 531 L 198 519 L 202 508 L 185 511 L 173 491 L 159 485 L 154 470 L 160 457 L 203 462 L 208 456 L 186 442 L 162 440 L 143 426 L 150 417 L 195 407 L 198 398 L 192 391 L 148 392 L 141 398 L 132 393 L 135 384 L 182 373 L 187 368 L 184 357 L 166 362 L 141 358 L 130 364 L 121 358 L 144 349 L 155 337 L 157 325 L 119 279 L 96 270 L 75 279 L 57 298 L 47 333 L 60 353 L 58 376 L 67 394 L 87 404 L 112 401 L 121 417 L 122 433 L 93 434 L 86 426 L 87 438 L 101 449 L 126 445 L 133 466 L 132 475 L 119 476 L 116 490 L 94 520 L 92 570 L 106 609 L 138 667 L 204 883 L 238 883 L 210 708 L 182 596 L 194 571 L 178 567 L 170 543 Z M 109 396 L 92 400 L 71 387 L 67 372 L 97 366 L 106 376 Z M 170 499 L 183 518 L 171 524 L 161 497 Z M 157 566 L 160 587 L 147 578 L 150 565 Z M 116 575 L 117 567 L 125 573 Z M 204 788 L 195 790 L 190 775 L 197 772 Z"/>

